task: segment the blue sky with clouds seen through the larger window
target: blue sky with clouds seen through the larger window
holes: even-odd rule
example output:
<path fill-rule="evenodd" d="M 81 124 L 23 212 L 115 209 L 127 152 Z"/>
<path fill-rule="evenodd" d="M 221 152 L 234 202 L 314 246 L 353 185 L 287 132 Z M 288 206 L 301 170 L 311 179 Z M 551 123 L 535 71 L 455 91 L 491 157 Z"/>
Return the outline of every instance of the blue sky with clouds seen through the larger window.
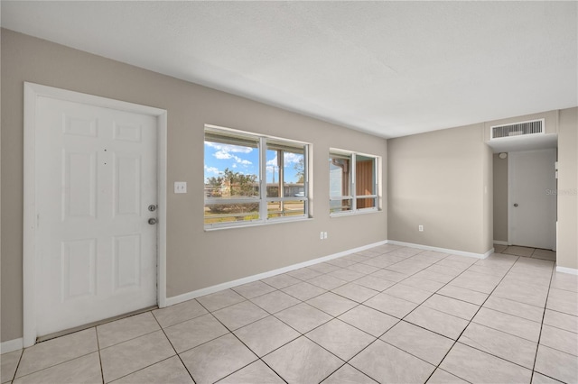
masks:
<path fill-rule="evenodd" d="M 285 182 L 297 181 L 294 164 L 303 155 L 285 153 Z M 219 142 L 205 142 L 205 180 L 213 176 L 219 176 L 225 169 L 231 169 L 245 175 L 257 175 L 259 169 L 259 151 L 256 148 L 222 144 Z M 267 182 L 279 180 L 279 170 L 275 151 L 267 151 Z"/>

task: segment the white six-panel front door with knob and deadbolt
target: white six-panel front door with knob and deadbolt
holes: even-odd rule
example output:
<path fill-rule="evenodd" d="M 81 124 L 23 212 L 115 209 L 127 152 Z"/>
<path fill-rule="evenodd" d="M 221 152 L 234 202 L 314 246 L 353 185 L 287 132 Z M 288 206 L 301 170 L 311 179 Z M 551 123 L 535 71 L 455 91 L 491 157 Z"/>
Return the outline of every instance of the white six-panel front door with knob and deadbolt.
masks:
<path fill-rule="evenodd" d="M 156 304 L 154 116 L 36 100 L 36 328 Z"/>

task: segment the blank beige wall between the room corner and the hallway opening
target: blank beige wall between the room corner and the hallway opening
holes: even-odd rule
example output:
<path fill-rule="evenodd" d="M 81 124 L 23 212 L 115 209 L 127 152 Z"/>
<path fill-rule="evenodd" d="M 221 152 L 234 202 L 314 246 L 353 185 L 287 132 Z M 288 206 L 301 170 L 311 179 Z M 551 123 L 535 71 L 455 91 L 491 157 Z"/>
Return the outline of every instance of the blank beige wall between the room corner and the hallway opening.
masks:
<path fill-rule="evenodd" d="M 473 253 L 492 248 L 492 156 L 483 132 L 480 123 L 387 141 L 390 240 Z"/>

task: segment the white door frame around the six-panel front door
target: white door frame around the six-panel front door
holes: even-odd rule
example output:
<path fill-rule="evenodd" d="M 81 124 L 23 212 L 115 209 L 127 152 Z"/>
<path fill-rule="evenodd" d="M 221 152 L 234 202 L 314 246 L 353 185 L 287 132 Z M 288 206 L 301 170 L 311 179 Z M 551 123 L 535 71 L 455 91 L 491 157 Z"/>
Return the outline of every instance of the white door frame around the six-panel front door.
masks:
<path fill-rule="evenodd" d="M 157 121 L 157 303 L 166 306 L 166 131 L 167 111 L 100 96 L 24 82 L 24 191 L 23 191 L 23 346 L 36 342 L 36 100 L 39 96 L 148 114 Z"/>

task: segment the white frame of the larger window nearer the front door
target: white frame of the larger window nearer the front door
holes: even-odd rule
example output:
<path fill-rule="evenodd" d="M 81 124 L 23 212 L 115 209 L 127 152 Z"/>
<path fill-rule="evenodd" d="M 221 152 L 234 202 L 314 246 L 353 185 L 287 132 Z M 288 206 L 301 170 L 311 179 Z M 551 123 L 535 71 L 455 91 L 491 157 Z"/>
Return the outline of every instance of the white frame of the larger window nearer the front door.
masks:
<path fill-rule="evenodd" d="M 241 197 L 241 198 L 231 198 L 227 200 L 223 200 L 219 197 L 207 197 L 204 195 L 204 206 L 210 204 L 243 204 L 243 203 L 258 203 L 259 208 L 259 217 L 254 220 L 247 220 L 247 221 L 232 221 L 232 222 L 223 222 L 223 223 L 214 223 L 214 224 L 204 224 L 204 228 L 206 231 L 215 230 L 215 229 L 222 229 L 222 228 L 233 228 L 233 227 L 245 227 L 251 225 L 262 225 L 262 224 L 274 224 L 274 223 L 284 223 L 284 222 L 291 222 L 291 221 L 298 221 L 303 219 L 308 219 L 309 215 L 309 196 L 310 196 L 310 171 L 309 171 L 309 151 L 311 148 L 311 143 L 308 142 L 299 142 L 285 138 L 279 138 L 275 136 L 268 136 L 258 133 L 249 133 L 246 131 L 239 131 L 231 128 L 219 127 L 216 125 L 205 124 L 205 133 L 224 133 L 231 137 L 235 137 L 238 135 L 239 138 L 241 137 L 248 137 L 251 139 L 255 139 L 257 142 L 257 151 L 258 151 L 258 159 L 259 159 L 259 171 L 258 171 L 258 179 L 257 183 L 259 186 L 259 195 L 258 197 Z M 283 197 L 283 190 L 282 189 L 282 197 L 267 197 L 266 188 L 267 188 L 267 180 L 266 180 L 266 151 L 267 151 L 267 141 L 272 142 L 283 142 L 287 145 L 287 147 L 303 147 L 303 197 Z M 205 163 L 205 153 L 204 153 L 204 145 L 203 145 L 203 165 Z M 203 172 L 204 178 L 204 172 Z M 203 181 L 204 183 L 204 181 Z M 267 204 L 269 202 L 285 202 L 285 201 L 303 201 L 303 215 L 289 215 L 289 216 L 282 216 L 282 217 L 268 217 L 268 208 Z M 204 206 L 203 206 L 203 220 L 204 220 Z M 250 214 L 249 214 L 250 215 Z"/>

